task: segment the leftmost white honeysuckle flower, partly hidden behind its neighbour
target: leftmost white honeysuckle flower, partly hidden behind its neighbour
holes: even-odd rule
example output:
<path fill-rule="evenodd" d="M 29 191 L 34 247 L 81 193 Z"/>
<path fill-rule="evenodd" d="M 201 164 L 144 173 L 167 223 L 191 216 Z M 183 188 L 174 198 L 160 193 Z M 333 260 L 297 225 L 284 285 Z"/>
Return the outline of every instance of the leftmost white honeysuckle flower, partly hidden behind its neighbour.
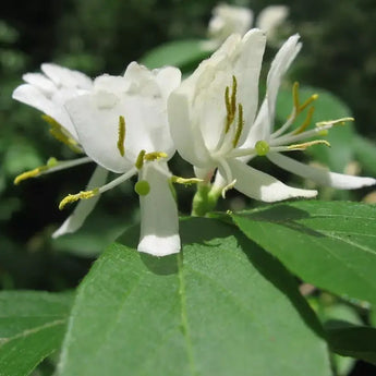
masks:
<path fill-rule="evenodd" d="M 80 145 L 76 131 L 64 108 L 64 104 L 66 100 L 90 90 L 93 87 L 92 80 L 78 71 L 72 71 L 51 63 L 41 64 L 41 72 L 24 74 L 23 80 L 25 84 L 15 88 L 13 98 L 44 112 L 43 118 L 49 123 L 50 133 L 73 151 L 77 154 L 84 153 Z M 50 158 L 45 166 L 26 171 L 16 177 L 14 183 L 19 184 L 28 178 L 39 177 L 45 173 L 56 172 L 92 161 L 92 158 L 88 157 L 65 161 L 58 161 L 54 158 Z M 87 189 L 102 185 L 107 180 L 107 170 L 97 166 L 88 182 Z M 90 214 L 99 196 L 92 202 L 80 203 L 72 215 L 52 236 L 57 238 L 64 233 L 76 231 Z"/>

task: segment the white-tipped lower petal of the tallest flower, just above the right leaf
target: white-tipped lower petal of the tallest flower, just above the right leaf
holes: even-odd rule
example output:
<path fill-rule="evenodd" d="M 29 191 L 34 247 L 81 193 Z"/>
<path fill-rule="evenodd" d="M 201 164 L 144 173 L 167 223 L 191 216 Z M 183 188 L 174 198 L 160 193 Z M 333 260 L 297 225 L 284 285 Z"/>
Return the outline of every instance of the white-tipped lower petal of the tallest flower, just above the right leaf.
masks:
<path fill-rule="evenodd" d="M 232 177 L 236 180 L 235 190 L 246 196 L 266 203 L 278 202 L 293 197 L 315 197 L 317 191 L 300 190 L 288 186 L 267 173 L 235 159 L 228 161 Z"/>

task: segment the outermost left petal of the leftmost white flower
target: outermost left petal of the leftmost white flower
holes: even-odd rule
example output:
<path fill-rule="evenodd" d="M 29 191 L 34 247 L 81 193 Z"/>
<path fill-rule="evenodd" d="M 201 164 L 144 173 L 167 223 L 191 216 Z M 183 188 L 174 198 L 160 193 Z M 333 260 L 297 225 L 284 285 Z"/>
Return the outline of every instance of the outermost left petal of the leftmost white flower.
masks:
<path fill-rule="evenodd" d="M 29 84 L 16 87 L 12 97 L 53 118 L 77 141 L 77 133 L 61 102 L 49 99 L 40 89 Z"/>

